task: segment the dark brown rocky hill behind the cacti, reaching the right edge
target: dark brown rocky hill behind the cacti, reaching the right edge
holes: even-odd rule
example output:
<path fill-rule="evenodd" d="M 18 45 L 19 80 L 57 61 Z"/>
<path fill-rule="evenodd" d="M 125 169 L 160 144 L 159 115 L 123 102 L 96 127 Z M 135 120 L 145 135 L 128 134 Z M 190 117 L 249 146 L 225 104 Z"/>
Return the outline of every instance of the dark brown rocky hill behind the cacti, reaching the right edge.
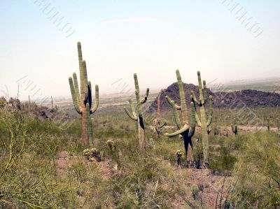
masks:
<path fill-rule="evenodd" d="M 190 91 L 194 91 L 196 96 L 199 95 L 198 86 L 184 83 L 187 103 L 190 103 Z M 257 90 L 241 90 L 235 92 L 211 92 L 207 90 L 207 95 L 212 95 L 214 98 L 214 108 L 248 108 L 256 107 L 275 107 L 280 106 L 280 94 L 272 92 L 261 92 Z M 168 95 L 174 99 L 176 103 L 180 103 L 179 87 L 176 82 L 163 89 L 163 94 L 160 96 L 161 110 L 171 110 L 171 106 L 165 99 Z M 153 101 L 149 108 L 149 112 L 157 110 L 158 97 Z"/>

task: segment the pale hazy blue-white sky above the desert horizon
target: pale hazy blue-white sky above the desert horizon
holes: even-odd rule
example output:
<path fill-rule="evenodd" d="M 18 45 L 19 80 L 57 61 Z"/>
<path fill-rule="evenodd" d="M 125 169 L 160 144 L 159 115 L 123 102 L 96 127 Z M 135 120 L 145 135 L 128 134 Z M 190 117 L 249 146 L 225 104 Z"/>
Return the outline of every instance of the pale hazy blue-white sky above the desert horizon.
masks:
<path fill-rule="evenodd" d="M 280 1 L 1 0 L 0 96 L 71 96 L 80 41 L 100 94 L 280 77 Z"/>

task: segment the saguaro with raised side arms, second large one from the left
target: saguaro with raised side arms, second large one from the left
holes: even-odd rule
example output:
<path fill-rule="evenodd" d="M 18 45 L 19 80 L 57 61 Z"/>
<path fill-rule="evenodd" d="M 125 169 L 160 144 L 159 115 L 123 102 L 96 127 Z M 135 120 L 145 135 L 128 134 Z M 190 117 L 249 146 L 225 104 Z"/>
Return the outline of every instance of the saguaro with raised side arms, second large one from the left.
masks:
<path fill-rule="evenodd" d="M 139 138 L 139 145 L 140 151 L 144 152 L 146 150 L 146 139 L 145 139 L 145 125 L 144 125 L 144 116 L 142 111 L 142 104 L 146 103 L 148 99 L 148 92 L 149 89 L 146 91 L 146 95 L 143 99 L 140 99 L 140 91 L 139 91 L 139 84 L 137 79 L 137 74 L 134 73 L 134 85 L 135 85 L 135 96 L 137 101 L 137 111 L 135 111 L 134 104 L 132 99 L 129 99 L 130 108 L 132 112 L 130 113 L 129 110 L 125 107 L 125 113 L 138 124 L 138 138 Z"/>

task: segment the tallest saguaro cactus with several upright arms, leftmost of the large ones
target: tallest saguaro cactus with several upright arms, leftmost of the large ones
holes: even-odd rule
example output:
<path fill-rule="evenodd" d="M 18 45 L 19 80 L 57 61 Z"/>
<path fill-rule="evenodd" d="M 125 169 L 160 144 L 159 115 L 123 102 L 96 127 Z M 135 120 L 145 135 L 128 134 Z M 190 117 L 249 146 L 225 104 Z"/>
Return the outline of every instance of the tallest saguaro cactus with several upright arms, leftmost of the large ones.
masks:
<path fill-rule="evenodd" d="M 77 113 L 82 115 L 83 143 L 85 146 L 92 146 L 92 120 L 90 115 L 93 114 L 98 108 L 99 88 L 98 85 L 95 85 L 95 100 L 94 106 L 92 106 L 92 86 L 90 81 L 87 81 L 87 66 L 85 64 L 85 60 L 83 60 L 80 42 L 77 43 L 77 46 L 78 63 L 80 69 L 80 92 L 76 73 L 73 73 L 73 78 L 69 77 L 69 85 L 74 107 Z"/>

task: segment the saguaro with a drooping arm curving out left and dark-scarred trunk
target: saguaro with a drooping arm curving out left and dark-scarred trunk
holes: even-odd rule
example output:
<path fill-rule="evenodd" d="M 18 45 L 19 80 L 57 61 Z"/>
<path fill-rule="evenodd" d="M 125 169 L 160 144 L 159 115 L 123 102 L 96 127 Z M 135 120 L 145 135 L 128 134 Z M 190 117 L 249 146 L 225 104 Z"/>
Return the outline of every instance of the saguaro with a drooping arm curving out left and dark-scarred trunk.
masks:
<path fill-rule="evenodd" d="M 172 99 L 169 98 L 169 96 L 165 96 L 165 97 L 173 108 L 174 120 L 176 122 L 176 126 L 179 129 L 179 131 L 176 131 L 172 134 L 165 134 L 165 136 L 169 136 L 169 137 L 177 136 L 177 135 L 183 136 L 188 166 L 194 166 L 193 153 L 192 153 L 192 149 L 189 149 L 189 145 L 190 147 L 193 148 L 192 137 L 195 134 L 195 105 L 193 102 L 190 103 L 192 109 L 191 109 L 191 123 L 189 124 L 188 109 L 186 105 L 186 96 L 183 89 L 183 82 L 179 70 L 176 71 L 176 76 L 179 85 L 181 105 L 180 106 L 177 105 Z M 178 110 L 181 110 L 182 122 L 180 120 Z M 190 159 L 191 161 L 188 161 L 188 159 Z"/>

